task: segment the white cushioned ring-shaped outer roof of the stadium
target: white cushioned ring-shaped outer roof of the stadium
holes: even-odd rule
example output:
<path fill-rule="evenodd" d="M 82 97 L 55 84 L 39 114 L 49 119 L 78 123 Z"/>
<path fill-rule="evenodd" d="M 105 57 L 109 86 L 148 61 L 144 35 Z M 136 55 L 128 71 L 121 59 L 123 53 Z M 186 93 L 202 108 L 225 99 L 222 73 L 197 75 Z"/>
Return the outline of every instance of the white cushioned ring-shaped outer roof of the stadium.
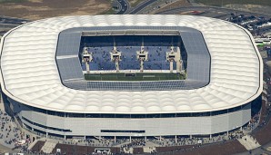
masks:
<path fill-rule="evenodd" d="M 80 91 L 65 87 L 55 62 L 59 34 L 74 27 L 184 26 L 203 34 L 210 82 L 194 90 Z M 189 15 L 55 17 L 24 24 L 1 40 L 1 86 L 17 102 L 53 111 L 169 113 L 223 110 L 253 101 L 263 89 L 263 64 L 244 28 Z"/>

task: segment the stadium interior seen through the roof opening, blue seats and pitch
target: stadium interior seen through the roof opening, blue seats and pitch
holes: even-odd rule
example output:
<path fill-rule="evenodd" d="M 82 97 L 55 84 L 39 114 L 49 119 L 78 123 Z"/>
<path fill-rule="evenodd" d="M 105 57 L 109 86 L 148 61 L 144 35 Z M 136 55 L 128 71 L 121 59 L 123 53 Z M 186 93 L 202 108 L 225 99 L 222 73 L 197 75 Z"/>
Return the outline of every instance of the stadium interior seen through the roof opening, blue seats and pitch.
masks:
<path fill-rule="evenodd" d="M 187 53 L 180 35 L 85 34 L 80 52 L 88 81 L 186 79 Z"/>

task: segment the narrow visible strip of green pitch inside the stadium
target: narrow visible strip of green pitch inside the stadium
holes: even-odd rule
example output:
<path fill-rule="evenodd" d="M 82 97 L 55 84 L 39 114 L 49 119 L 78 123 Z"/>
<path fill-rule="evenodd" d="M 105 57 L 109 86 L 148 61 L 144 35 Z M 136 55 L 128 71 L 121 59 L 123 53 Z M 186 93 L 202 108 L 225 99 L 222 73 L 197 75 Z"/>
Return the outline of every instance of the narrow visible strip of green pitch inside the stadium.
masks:
<path fill-rule="evenodd" d="M 184 80 L 180 73 L 85 73 L 87 81 L 161 81 Z"/>

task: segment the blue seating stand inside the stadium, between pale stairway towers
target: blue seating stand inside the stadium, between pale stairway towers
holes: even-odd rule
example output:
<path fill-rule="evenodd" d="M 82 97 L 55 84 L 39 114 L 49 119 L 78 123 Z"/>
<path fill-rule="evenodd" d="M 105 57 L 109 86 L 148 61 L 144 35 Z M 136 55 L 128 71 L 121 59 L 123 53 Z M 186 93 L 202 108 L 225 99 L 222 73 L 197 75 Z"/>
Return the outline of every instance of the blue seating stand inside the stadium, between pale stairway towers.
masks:
<path fill-rule="evenodd" d="M 144 63 L 144 70 L 169 70 L 169 62 L 166 61 L 166 52 L 174 46 L 176 51 L 177 36 L 82 36 L 81 51 L 88 47 L 88 53 L 93 54 L 93 61 L 90 62 L 92 71 L 115 70 L 115 63 L 110 60 L 110 53 L 113 50 L 114 40 L 117 51 L 121 52 L 120 70 L 139 70 L 140 63 L 136 59 L 136 51 L 141 48 L 141 40 L 148 52 L 148 60 Z M 143 39 L 142 39 L 143 38 Z M 184 50 L 184 49 L 183 49 Z M 182 52 L 186 55 L 185 50 Z M 83 71 L 86 70 L 85 63 L 82 63 Z M 174 63 L 176 70 L 176 63 Z"/>

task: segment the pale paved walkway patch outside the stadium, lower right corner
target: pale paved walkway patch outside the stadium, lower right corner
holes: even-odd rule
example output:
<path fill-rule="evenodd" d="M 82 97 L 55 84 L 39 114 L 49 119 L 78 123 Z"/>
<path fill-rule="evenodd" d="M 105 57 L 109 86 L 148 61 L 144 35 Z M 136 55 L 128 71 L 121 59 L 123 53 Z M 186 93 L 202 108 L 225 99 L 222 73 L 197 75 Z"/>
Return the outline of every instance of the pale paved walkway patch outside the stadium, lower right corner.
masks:
<path fill-rule="evenodd" d="M 261 146 L 251 135 L 246 135 L 242 137 L 242 139 L 238 139 L 238 141 L 246 148 L 246 150 L 254 150 Z"/>

